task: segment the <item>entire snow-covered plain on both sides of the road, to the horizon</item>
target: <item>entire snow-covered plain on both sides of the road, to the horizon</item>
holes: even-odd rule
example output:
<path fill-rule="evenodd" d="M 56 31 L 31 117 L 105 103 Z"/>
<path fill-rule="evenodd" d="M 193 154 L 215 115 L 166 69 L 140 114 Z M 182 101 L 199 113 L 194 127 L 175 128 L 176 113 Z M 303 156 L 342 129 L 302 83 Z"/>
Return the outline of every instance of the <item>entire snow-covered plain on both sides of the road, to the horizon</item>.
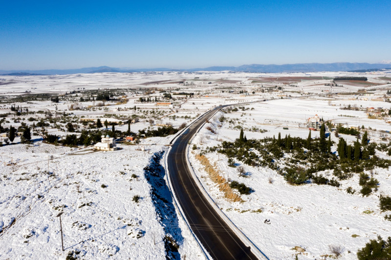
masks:
<path fill-rule="evenodd" d="M 388 142 L 391 118 L 386 115 L 369 119 L 365 109 L 391 108 L 387 102 L 390 95 L 386 95 L 391 84 L 381 78 L 390 77 L 390 73 L 365 74 L 369 81 L 365 84 L 325 85 L 336 76 L 357 75 L 363 76 L 342 72 L 1 76 L 1 126 L 32 127 L 44 122 L 49 124 L 45 131 L 64 137 L 71 134 L 65 127 L 69 121 L 77 129 L 75 134 L 80 135 L 82 129 L 95 129 L 84 125 L 82 118 L 101 118 L 102 123 L 105 119 L 138 118 L 130 125 L 131 131 L 138 133 L 165 124 L 177 128 L 218 105 L 240 103 L 235 106 L 237 111 L 219 112 L 212 124 L 206 125 L 216 134 L 204 127 L 193 142 L 203 148 L 222 140 L 233 141 L 239 137 L 240 128 L 248 139 L 277 137 L 279 132 L 282 137 L 290 134 L 306 138 L 306 120 L 316 114 L 335 123 L 364 125 L 371 141 Z M 93 91 L 109 90 L 121 95 L 104 104 L 80 101 L 81 97 L 96 97 Z M 194 95 L 174 95 L 180 92 Z M 173 99 L 164 99 L 165 93 L 171 93 Z M 59 96 L 60 101 L 54 103 L 44 96 L 20 98 L 35 94 Z M 159 106 L 156 102 L 140 102 L 140 98 L 172 104 Z M 17 116 L 10 110 L 11 105 L 21 106 L 22 112 L 27 108 L 29 114 Z M 348 105 L 358 110 L 341 109 Z M 223 123 L 218 122 L 221 115 L 226 118 Z M 125 132 L 128 125 L 116 125 L 115 129 Z M 175 211 L 165 187 L 164 169 L 158 164 L 173 136 L 140 139 L 139 145 L 120 145 L 123 149 L 119 151 L 93 152 L 91 146 L 69 148 L 43 143 L 41 130 L 36 127 L 33 131 L 32 144 L 21 144 L 20 137 L 16 137 L 14 145 L 0 147 L 0 259 L 64 259 L 68 253 L 83 259 L 165 259 L 166 255 L 202 259 L 195 240 Z M 99 130 L 109 131 L 111 126 Z M 312 132 L 312 137 L 318 135 Z M 353 136 L 341 136 L 350 143 L 355 140 Z M 334 135 L 331 138 L 338 141 Z M 4 138 L 0 142 L 6 143 Z M 137 151 L 140 145 L 147 151 Z M 195 153 L 190 151 L 190 160 L 197 165 Z M 358 192 L 346 193 L 348 186 L 360 189 L 358 176 L 341 181 L 340 188 L 291 186 L 273 170 L 244 165 L 249 177 L 243 178 L 235 168 L 227 166 L 225 156 L 206 156 L 216 162 L 227 180 L 238 180 L 255 190 L 242 196 L 245 202 L 232 203 L 223 199 L 208 178 L 200 178 L 222 211 L 270 259 L 294 259 L 298 253 L 292 250 L 295 246 L 306 250 L 299 259 L 321 259 L 330 255 L 329 245 L 345 247 L 341 259 L 356 259 L 357 250 L 369 239 L 391 234 L 390 222 L 384 220 L 378 207 L 378 196 L 391 194 L 390 169 L 374 170 L 379 190 L 363 198 Z M 386 153 L 380 157 L 388 158 Z M 199 166 L 195 173 L 205 175 Z M 140 196 L 140 200 L 135 202 L 134 196 Z M 64 212 L 64 252 L 60 221 L 56 218 L 60 212 Z M 270 219 L 271 224 L 265 224 L 265 219 Z M 178 252 L 167 251 L 172 241 L 179 246 Z"/>

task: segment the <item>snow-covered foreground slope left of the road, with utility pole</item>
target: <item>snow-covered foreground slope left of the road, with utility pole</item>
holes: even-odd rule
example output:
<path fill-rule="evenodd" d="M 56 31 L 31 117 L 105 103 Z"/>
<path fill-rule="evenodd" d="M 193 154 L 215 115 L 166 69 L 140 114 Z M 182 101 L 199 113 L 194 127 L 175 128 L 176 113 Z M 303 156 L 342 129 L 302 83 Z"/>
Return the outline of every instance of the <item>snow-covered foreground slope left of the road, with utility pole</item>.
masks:
<path fill-rule="evenodd" d="M 167 240 L 177 239 L 175 234 L 169 239 L 172 234 L 163 228 L 145 167 L 166 148 L 122 147 L 114 152 L 42 142 L 1 147 L 0 258 L 165 259 Z M 60 212 L 65 252 L 56 218 Z M 199 259 L 183 221 L 176 220 L 171 229 L 182 236 L 176 255 Z"/>

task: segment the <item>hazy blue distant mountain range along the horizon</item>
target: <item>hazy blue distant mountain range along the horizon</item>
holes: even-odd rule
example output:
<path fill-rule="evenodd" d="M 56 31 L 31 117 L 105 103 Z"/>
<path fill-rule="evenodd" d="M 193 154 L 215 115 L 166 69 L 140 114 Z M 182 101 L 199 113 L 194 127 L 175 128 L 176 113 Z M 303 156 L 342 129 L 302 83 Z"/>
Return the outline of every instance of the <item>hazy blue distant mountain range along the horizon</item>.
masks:
<path fill-rule="evenodd" d="M 232 72 L 258 72 L 258 73 L 294 73 L 294 72 L 320 72 L 320 71 L 366 71 L 390 69 L 391 64 L 385 61 L 382 63 L 297 63 L 297 64 L 249 64 L 239 67 L 214 66 L 207 68 L 181 69 L 173 70 L 168 68 L 152 68 L 152 69 L 124 69 L 112 68 L 108 66 L 89 67 L 81 69 L 65 69 L 65 70 L 0 70 L 0 75 L 11 76 L 28 76 L 28 75 L 66 75 L 66 74 L 81 74 L 81 73 L 102 73 L 102 72 L 149 72 L 149 71 L 232 71 Z"/>

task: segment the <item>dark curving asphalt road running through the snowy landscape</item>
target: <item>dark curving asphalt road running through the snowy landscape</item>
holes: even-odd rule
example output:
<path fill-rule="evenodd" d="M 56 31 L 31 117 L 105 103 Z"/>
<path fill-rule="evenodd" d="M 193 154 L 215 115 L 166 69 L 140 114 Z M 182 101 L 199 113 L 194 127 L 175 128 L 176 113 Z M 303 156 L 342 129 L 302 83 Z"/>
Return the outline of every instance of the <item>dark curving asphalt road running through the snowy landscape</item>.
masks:
<path fill-rule="evenodd" d="M 203 196 L 186 162 L 188 141 L 215 112 L 216 109 L 210 111 L 190 125 L 172 144 L 167 160 L 171 183 L 190 227 L 213 259 L 258 259 Z"/>

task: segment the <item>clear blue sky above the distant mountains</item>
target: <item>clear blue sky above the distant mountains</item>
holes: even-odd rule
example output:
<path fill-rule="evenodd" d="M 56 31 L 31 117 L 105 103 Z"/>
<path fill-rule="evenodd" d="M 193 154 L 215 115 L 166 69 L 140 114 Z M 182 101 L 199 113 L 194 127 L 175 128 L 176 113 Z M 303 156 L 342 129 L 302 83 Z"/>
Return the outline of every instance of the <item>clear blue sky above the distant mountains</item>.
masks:
<path fill-rule="evenodd" d="M 1 1 L 0 69 L 391 60 L 391 0 Z"/>

